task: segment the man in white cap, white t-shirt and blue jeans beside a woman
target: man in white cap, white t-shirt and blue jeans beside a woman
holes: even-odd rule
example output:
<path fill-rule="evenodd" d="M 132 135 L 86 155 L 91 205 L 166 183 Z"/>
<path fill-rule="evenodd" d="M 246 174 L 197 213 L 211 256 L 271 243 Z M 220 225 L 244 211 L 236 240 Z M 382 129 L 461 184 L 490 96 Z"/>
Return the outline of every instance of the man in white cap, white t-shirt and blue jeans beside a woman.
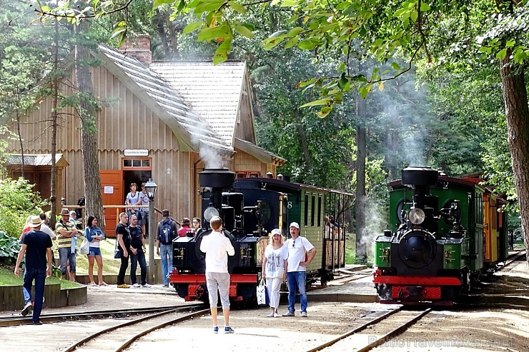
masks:
<path fill-rule="evenodd" d="M 285 243 L 288 248 L 288 313 L 283 316 L 294 316 L 294 305 L 296 302 L 296 287 L 300 291 L 301 316 L 307 317 L 307 269 L 316 255 L 316 249 L 305 237 L 300 236 L 300 224 L 290 224 L 290 236 Z"/>

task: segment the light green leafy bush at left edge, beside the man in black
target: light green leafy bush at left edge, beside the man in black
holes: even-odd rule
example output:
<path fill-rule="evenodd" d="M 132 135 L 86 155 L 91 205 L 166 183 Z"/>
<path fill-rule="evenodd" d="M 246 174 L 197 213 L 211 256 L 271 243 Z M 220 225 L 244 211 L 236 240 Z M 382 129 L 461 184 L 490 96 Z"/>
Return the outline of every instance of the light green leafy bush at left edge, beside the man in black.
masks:
<path fill-rule="evenodd" d="M 0 180 L 0 230 L 11 238 L 18 240 L 26 218 L 38 215 L 46 205 L 33 186 L 24 178 Z"/>

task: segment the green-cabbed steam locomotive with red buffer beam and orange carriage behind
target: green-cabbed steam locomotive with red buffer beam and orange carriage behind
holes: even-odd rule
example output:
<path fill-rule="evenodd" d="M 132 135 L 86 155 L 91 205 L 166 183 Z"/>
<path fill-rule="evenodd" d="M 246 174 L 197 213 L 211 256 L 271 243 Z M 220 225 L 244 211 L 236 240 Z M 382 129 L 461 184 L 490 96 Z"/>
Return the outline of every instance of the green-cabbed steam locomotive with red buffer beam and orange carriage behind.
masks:
<path fill-rule="evenodd" d="M 390 187 L 392 228 L 375 240 L 382 303 L 452 304 L 505 260 L 505 200 L 479 179 L 407 168 Z"/>

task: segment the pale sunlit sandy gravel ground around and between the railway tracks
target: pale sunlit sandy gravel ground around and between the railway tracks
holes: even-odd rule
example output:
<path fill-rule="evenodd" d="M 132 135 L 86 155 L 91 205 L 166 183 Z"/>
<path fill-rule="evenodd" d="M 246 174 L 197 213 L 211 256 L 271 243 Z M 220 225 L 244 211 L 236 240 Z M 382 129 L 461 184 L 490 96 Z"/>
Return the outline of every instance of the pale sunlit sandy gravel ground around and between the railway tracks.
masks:
<path fill-rule="evenodd" d="M 512 270 L 502 273 L 495 281 L 494 293 L 507 293 L 508 301 L 513 297 L 518 302 L 529 299 L 529 274 L 527 263 L 520 262 Z M 500 286 L 504 285 L 504 286 Z M 501 288 L 503 287 L 503 288 Z M 505 294 L 504 293 L 504 294 Z M 160 285 L 153 288 L 129 288 L 127 290 L 109 286 L 89 287 L 88 303 L 83 306 L 45 309 L 43 313 L 58 311 L 90 311 L 135 306 L 159 306 L 160 304 L 183 304 L 174 289 Z M 525 306 L 529 306 L 525 305 Z M 296 306 L 299 309 L 299 303 Z M 214 334 L 209 315 L 192 321 L 154 331 L 144 343 L 159 351 L 170 351 L 177 346 L 179 351 L 307 351 L 320 343 L 329 341 L 355 326 L 355 321 L 372 311 L 391 308 L 378 303 L 316 303 L 309 298 L 308 318 L 267 318 L 266 307 L 247 310 L 232 310 L 231 326 L 234 334 Z M 285 313 L 285 303 L 280 313 Z M 18 312 L 0 312 L 1 316 Z M 219 326 L 224 326 L 219 315 Z M 59 336 L 64 326 L 44 324 L 44 326 L 20 326 L 1 331 L 4 336 L 31 334 L 39 336 Z M 8 333 L 9 332 L 9 333 Z M 14 334 L 14 335 L 12 335 Z M 380 346 L 375 351 L 529 351 L 529 311 L 505 308 L 471 308 L 435 310 L 419 323 L 402 333 L 397 339 Z M 9 345 L 9 343 L 8 343 Z M 131 346 L 131 351 L 144 351 L 145 345 Z M 209 346 L 209 347 L 208 347 Z M 214 348 L 213 348 L 214 346 Z M 167 349 L 166 349 L 167 348 Z M 357 346 L 347 346 L 345 350 L 355 351 Z M 19 351 L 36 351 L 25 350 Z"/>

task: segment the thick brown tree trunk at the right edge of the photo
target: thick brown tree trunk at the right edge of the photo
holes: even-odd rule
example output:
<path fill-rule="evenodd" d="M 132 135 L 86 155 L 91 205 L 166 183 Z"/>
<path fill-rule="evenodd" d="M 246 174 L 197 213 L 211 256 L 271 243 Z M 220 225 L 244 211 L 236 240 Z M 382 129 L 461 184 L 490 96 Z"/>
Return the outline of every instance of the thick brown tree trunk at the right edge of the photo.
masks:
<path fill-rule="evenodd" d="M 500 74 L 524 243 L 529 250 L 529 107 L 524 71 L 520 66 L 513 67 L 511 54 L 508 50 L 505 59 L 500 60 Z M 529 256 L 526 260 L 529 265 Z"/>

